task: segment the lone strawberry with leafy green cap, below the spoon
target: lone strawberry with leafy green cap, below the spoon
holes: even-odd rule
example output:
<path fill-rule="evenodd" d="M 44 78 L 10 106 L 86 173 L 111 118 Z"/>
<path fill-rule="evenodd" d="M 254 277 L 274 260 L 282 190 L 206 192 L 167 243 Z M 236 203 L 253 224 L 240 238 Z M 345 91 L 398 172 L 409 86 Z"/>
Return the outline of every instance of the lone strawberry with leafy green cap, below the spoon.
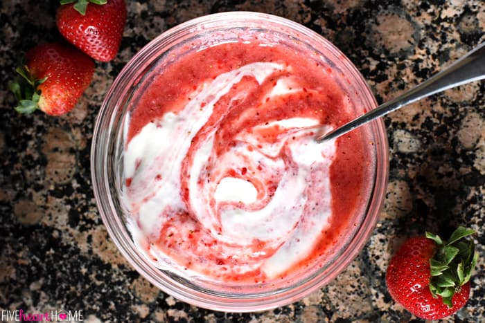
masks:
<path fill-rule="evenodd" d="M 426 232 L 403 243 L 387 268 L 387 289 L 409 312 L 439 320 L 463 307 L 477 262 L 473 230 L 460 227 L 448 242 Z"/>

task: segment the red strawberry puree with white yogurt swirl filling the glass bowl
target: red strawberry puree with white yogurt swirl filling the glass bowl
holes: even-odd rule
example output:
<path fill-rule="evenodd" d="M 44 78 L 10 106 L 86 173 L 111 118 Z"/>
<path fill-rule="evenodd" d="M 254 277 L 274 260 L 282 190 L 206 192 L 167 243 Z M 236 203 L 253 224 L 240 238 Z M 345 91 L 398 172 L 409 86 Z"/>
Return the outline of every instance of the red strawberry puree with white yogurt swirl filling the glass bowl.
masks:
<path fill-rule="evenodd" d="M 264 45 L 181 55 L 132 100 L 123 198 L 135 243 L 160 268 L 280 279 L 318 266 L 359 221 L 367 139 L 313 140 L 353 117 L 349 98 L 306 52 Z"/>

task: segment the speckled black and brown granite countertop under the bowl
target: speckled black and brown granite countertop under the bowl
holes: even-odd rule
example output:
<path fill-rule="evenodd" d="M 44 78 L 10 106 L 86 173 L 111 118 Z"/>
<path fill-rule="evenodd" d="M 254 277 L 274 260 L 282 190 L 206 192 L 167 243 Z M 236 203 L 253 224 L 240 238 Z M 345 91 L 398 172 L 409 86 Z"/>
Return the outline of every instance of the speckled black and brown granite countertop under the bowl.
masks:
<path fill-rule="evenodd" d="M 341 48 L 383 102 L 485 41 L 484 1 L 127 0 L 118 56 L 96 63 L 76 109 L 59 118 L 19 116 L 8 80 L 25 50 L 61 39 L 57 6 L 58 1 L 0 2 L 1 311 L 82 311 L 87 322 L 421 322 L 387 293 L 389 257 L 405 237 L 465 225 L 479 232 L 480 258 L 470 301 L 445 322 L 484 322 L 484 82 L 385 118 L 389 187 L 369 243 L 335 281 L 274 311 L 207 311 L 150 285 L 108 237 L 89 169 L 94 120 L 114 77 L 148 41 L 183 21 L 229 10 L 297 21 Z"/>

